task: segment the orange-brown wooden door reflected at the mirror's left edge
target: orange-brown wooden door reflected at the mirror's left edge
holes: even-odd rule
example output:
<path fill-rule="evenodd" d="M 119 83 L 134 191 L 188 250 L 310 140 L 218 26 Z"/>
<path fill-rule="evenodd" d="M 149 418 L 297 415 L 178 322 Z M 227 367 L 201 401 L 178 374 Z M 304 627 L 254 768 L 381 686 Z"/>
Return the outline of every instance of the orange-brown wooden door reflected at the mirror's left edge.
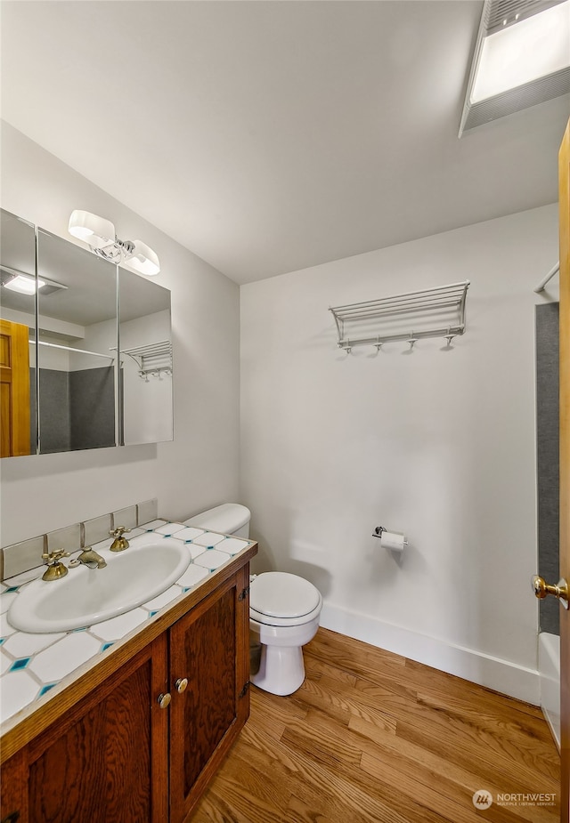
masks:
<path fill-rule="evenodd" d="M 0 319 L 0 456 L 29 454 L 28 327 Z"/>

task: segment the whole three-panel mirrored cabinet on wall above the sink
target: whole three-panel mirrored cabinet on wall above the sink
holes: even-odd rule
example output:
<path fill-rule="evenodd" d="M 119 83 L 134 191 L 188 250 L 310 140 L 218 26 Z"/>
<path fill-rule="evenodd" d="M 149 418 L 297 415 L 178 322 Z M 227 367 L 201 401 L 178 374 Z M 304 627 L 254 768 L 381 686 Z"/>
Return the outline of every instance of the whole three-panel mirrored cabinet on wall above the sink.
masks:
<path fill-rule="evenodd" d="M 2 456 L 172 440 L 170 292 L 13 214 L 0 220 Z"/>

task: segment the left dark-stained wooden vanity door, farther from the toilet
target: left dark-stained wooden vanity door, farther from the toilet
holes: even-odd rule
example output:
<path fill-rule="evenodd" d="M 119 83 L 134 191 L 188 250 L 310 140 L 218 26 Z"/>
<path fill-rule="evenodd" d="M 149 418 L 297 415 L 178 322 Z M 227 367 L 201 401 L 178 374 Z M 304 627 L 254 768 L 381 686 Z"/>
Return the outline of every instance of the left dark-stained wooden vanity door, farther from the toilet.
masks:
<path fill-rule="evenodd" d="M 166 686 L 162 636 L 33 741 L 29 820 L 165 823 L 168 711 L 157 698 Z"/>

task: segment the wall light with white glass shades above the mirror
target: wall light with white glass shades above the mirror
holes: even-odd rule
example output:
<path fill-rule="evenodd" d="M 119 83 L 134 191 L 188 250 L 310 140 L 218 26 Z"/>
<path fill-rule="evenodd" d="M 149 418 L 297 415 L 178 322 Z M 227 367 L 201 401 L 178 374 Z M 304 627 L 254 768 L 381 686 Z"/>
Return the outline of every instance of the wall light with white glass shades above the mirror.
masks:
<path fill-rule="evenodd" d="M 136 274 L 147 277 L 159 274 L 157 254 L 142 240 L 120 240 L 110 220 L 97 214 L 75 209 L 69 217 L 69 234 L 83 240 L 94 254 L 117 265 L 123 265 Z"/>

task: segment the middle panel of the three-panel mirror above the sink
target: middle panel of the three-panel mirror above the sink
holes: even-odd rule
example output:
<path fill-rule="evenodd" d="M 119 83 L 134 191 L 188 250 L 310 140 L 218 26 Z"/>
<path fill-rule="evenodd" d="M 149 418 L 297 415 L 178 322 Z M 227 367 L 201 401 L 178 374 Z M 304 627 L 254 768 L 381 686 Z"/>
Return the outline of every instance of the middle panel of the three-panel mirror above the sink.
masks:
<path fill-rule="evenodd" d="M 114 446 L 116 267 L 38 229 L 37 278 L 39 453 Z"/>

